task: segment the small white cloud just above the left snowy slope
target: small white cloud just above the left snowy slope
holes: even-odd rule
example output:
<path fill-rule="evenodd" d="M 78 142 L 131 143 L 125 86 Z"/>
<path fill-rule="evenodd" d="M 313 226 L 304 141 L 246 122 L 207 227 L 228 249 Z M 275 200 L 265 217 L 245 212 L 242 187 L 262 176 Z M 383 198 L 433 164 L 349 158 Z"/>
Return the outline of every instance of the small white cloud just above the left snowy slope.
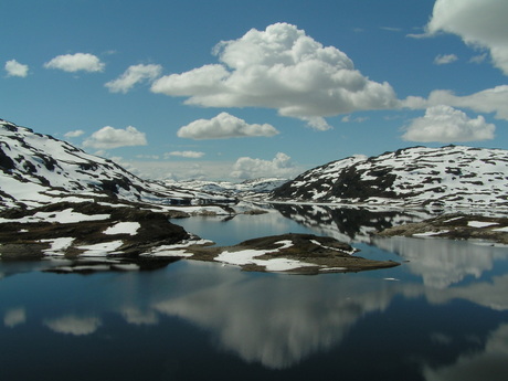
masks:
<path fill-rule="evenodd" d="M 138 131 L 136 127 L 133 126 L 128 126 L 126 129 L 106 126 L 92 134 L 83 145 L 85 147 L 109 149 L 129 146 L 146 146 L 147 139 L 144 133 Z"/>

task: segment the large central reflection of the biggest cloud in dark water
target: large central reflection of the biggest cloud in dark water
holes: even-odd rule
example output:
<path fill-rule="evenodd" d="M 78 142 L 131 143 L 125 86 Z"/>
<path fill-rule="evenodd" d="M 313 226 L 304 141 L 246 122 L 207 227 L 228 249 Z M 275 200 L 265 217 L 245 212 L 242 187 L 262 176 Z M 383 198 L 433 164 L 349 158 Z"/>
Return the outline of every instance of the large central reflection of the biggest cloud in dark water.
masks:
<path fill-rule="evenodd" d="M 223 349 L 247 362 L 283 369 L 340 343 L 360 317 L 384 310 L 396 293 L 393 283 L 373 287 L 364 278 L 308 279 L 243 276 L 155 308 L 211 330 Z"/>

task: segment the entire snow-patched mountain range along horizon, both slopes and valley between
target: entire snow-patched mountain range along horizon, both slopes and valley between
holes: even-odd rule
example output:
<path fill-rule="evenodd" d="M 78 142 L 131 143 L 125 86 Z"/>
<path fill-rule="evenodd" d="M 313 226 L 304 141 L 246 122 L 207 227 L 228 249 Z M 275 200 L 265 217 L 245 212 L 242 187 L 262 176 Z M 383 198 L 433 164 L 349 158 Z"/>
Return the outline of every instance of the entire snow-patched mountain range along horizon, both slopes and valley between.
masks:
<path fill-rule="evenodd" d="M 287 182 L 162 182 L 140 179 L 112 160 L 0 119 L 0 210 L 100 198 L 152 205 L 251 198 L 263 202 L 508 211 L 508 151 L 412 147 L 332 161 Z"/>

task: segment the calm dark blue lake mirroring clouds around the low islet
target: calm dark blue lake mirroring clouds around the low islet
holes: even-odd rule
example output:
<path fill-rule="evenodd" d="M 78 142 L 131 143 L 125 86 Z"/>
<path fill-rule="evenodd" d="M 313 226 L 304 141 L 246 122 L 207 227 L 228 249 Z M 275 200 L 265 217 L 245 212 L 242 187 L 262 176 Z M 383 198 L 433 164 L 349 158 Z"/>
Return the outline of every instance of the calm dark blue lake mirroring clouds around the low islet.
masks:
<path fill-rule="evenodd" d="M 0 380 L 508 380 L 508 250 L 370 236 L 421 218 L 277 205 L 173 221 L 220 245 L 314 233 L 402 263 L 362 273 L 0 262 Z"/>

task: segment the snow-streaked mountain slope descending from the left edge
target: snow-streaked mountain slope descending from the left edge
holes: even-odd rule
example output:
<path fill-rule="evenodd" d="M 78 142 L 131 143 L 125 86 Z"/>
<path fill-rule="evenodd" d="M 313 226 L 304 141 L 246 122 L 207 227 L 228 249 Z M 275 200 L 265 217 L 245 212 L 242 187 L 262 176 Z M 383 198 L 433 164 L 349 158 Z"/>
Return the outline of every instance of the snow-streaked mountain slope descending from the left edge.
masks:
<path fill-rule="evenodd" d="M 106 197 L 158 204 L 216 198 L 142 180 L 110 160 L 0 119 L 0 209 Z"/>

